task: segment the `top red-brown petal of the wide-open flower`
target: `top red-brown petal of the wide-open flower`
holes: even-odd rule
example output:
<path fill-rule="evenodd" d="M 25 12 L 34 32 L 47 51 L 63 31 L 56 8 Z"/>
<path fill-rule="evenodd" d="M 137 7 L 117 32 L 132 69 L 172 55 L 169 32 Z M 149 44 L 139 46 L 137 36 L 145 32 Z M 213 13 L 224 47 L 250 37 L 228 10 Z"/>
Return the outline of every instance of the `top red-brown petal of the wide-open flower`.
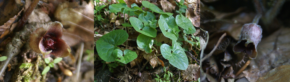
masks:
<path fill-rule="evenodd" d="M 49 25 L 48 30 L 45 35 L 49 35 L 50 37 L 60 38 L 63 35 L 63 25 L 60 22 L 53 22 Z"/>

